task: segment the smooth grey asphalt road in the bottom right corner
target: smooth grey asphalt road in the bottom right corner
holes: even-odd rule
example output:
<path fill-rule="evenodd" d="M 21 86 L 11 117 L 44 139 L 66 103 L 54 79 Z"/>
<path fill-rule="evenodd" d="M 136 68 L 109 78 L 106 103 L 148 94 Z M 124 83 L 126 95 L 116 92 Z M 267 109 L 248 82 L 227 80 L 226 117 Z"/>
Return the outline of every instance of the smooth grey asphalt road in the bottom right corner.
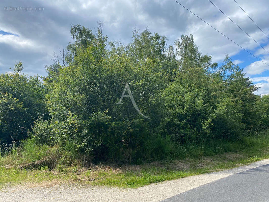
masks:
<path fill-rule="evenodd" d="M 180 193 L 162 202 L 268 202 L 269 164 Z"/>

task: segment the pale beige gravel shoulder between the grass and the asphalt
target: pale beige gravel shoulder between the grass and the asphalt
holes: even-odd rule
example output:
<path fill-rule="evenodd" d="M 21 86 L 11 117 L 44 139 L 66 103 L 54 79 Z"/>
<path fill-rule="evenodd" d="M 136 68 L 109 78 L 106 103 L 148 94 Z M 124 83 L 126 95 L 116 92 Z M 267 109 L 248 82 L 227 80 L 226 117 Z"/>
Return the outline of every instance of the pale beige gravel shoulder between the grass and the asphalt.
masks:
<path fill-rule="evenodd" d="M 18 185 L 3 188 L 0 191 L 0 201 L 161 201 L 203 184 L 267 164 L 269 164 L 269 159 L 220 172 L 150 184 L 137 189 L 82 184 L 62 184 L 48 187 Z"/>

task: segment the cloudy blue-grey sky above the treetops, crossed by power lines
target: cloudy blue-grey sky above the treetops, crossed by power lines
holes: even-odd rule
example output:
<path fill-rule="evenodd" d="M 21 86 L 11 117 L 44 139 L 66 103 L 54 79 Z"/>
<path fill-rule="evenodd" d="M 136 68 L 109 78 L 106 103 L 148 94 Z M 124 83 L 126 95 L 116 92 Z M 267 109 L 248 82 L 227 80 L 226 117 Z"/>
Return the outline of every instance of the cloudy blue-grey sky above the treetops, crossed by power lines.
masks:
<path fill-rule="evenodd" d="M 219 9 L 269 52 L 269 39 L 233 0 L 211 0 Z M 256 57 L 269 64 L 269 54 L 247 36 L 208 0 L 178 0 L 197 16 L 218 29 Z M 269 37 L 268 0 L 236 0 Z M 269 93 L 269 66 L 225 38 L 174 0 L 1 0 L 0 73 L 22 61 L 23 72 L 47 75 L 54 53 L 69 42 L 70 26 L 81 24 L 93 30 L 103 22 L 109 40 L 132 40 L 132 31 L 148 28 L 168 37 L 171 44 L 182 34 L 193 34 L 202 54 L 221 62 L 228 53 L 259 86 L 257 95 Z"/>

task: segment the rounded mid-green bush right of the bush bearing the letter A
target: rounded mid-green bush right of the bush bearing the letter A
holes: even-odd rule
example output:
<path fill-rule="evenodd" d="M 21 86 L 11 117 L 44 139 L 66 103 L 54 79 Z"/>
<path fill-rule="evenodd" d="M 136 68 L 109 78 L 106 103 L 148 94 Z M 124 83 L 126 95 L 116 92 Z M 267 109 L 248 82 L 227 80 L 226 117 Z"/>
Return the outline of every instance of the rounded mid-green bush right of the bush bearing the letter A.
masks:
<path fill-rule="evenodd" d="M 211 102 L 210 81 L 204 74 L 193 77 L 193 70 L 182 72 L 163 94 L 169 116 L 160 130 L 174 141 L 204 139 L 211 133 L 214 103 Z M 196 80 L 197 79 L 197 80 Z"/>

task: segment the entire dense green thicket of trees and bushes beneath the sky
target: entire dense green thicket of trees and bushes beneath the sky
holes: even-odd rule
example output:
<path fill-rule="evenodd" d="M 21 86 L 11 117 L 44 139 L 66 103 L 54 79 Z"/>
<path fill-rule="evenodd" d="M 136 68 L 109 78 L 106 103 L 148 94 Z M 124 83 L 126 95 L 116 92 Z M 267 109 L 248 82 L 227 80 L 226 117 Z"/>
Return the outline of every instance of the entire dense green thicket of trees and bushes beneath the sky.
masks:
<path fill-rule="evenodd" d="M 218 66 L 202 55 L 192 35 L 168 47 L 166 37 L 148 30 L 134 31 L 126 45 L 108 41 L 102 26 L 94 35 L 72 25 L 71 36 L 75 41 L 66 48 L 65 63 L 47 67 L 43 84 L 18 72 L 1 75 L 25 78 L 27 85 L 35 81 L 32 91 L 25 91 L 35 89 L 36 95 L 30 99 L 35 114 L 25 119 L 25 128 L 34 121 L 29 134 L 37 144 L 69 148 L 94 162 L 140 163 L 180 155 L 182 145 L 240 141 L 247 130 L 269 126 L 268 96 L 254 95 L 258 88 L 228 56 Z M 136 111 L 130 97 L 117 104 L 126 83 L 150 119 Z M 6 127 L 16 128 L 28 116 L 23 113 L 30 114 L 29 103 L 22 93 L 1 92 L 0 121 L 12 114 L 16 121 Z M 41 116 L 44 95 L 49 119 Z"/>

